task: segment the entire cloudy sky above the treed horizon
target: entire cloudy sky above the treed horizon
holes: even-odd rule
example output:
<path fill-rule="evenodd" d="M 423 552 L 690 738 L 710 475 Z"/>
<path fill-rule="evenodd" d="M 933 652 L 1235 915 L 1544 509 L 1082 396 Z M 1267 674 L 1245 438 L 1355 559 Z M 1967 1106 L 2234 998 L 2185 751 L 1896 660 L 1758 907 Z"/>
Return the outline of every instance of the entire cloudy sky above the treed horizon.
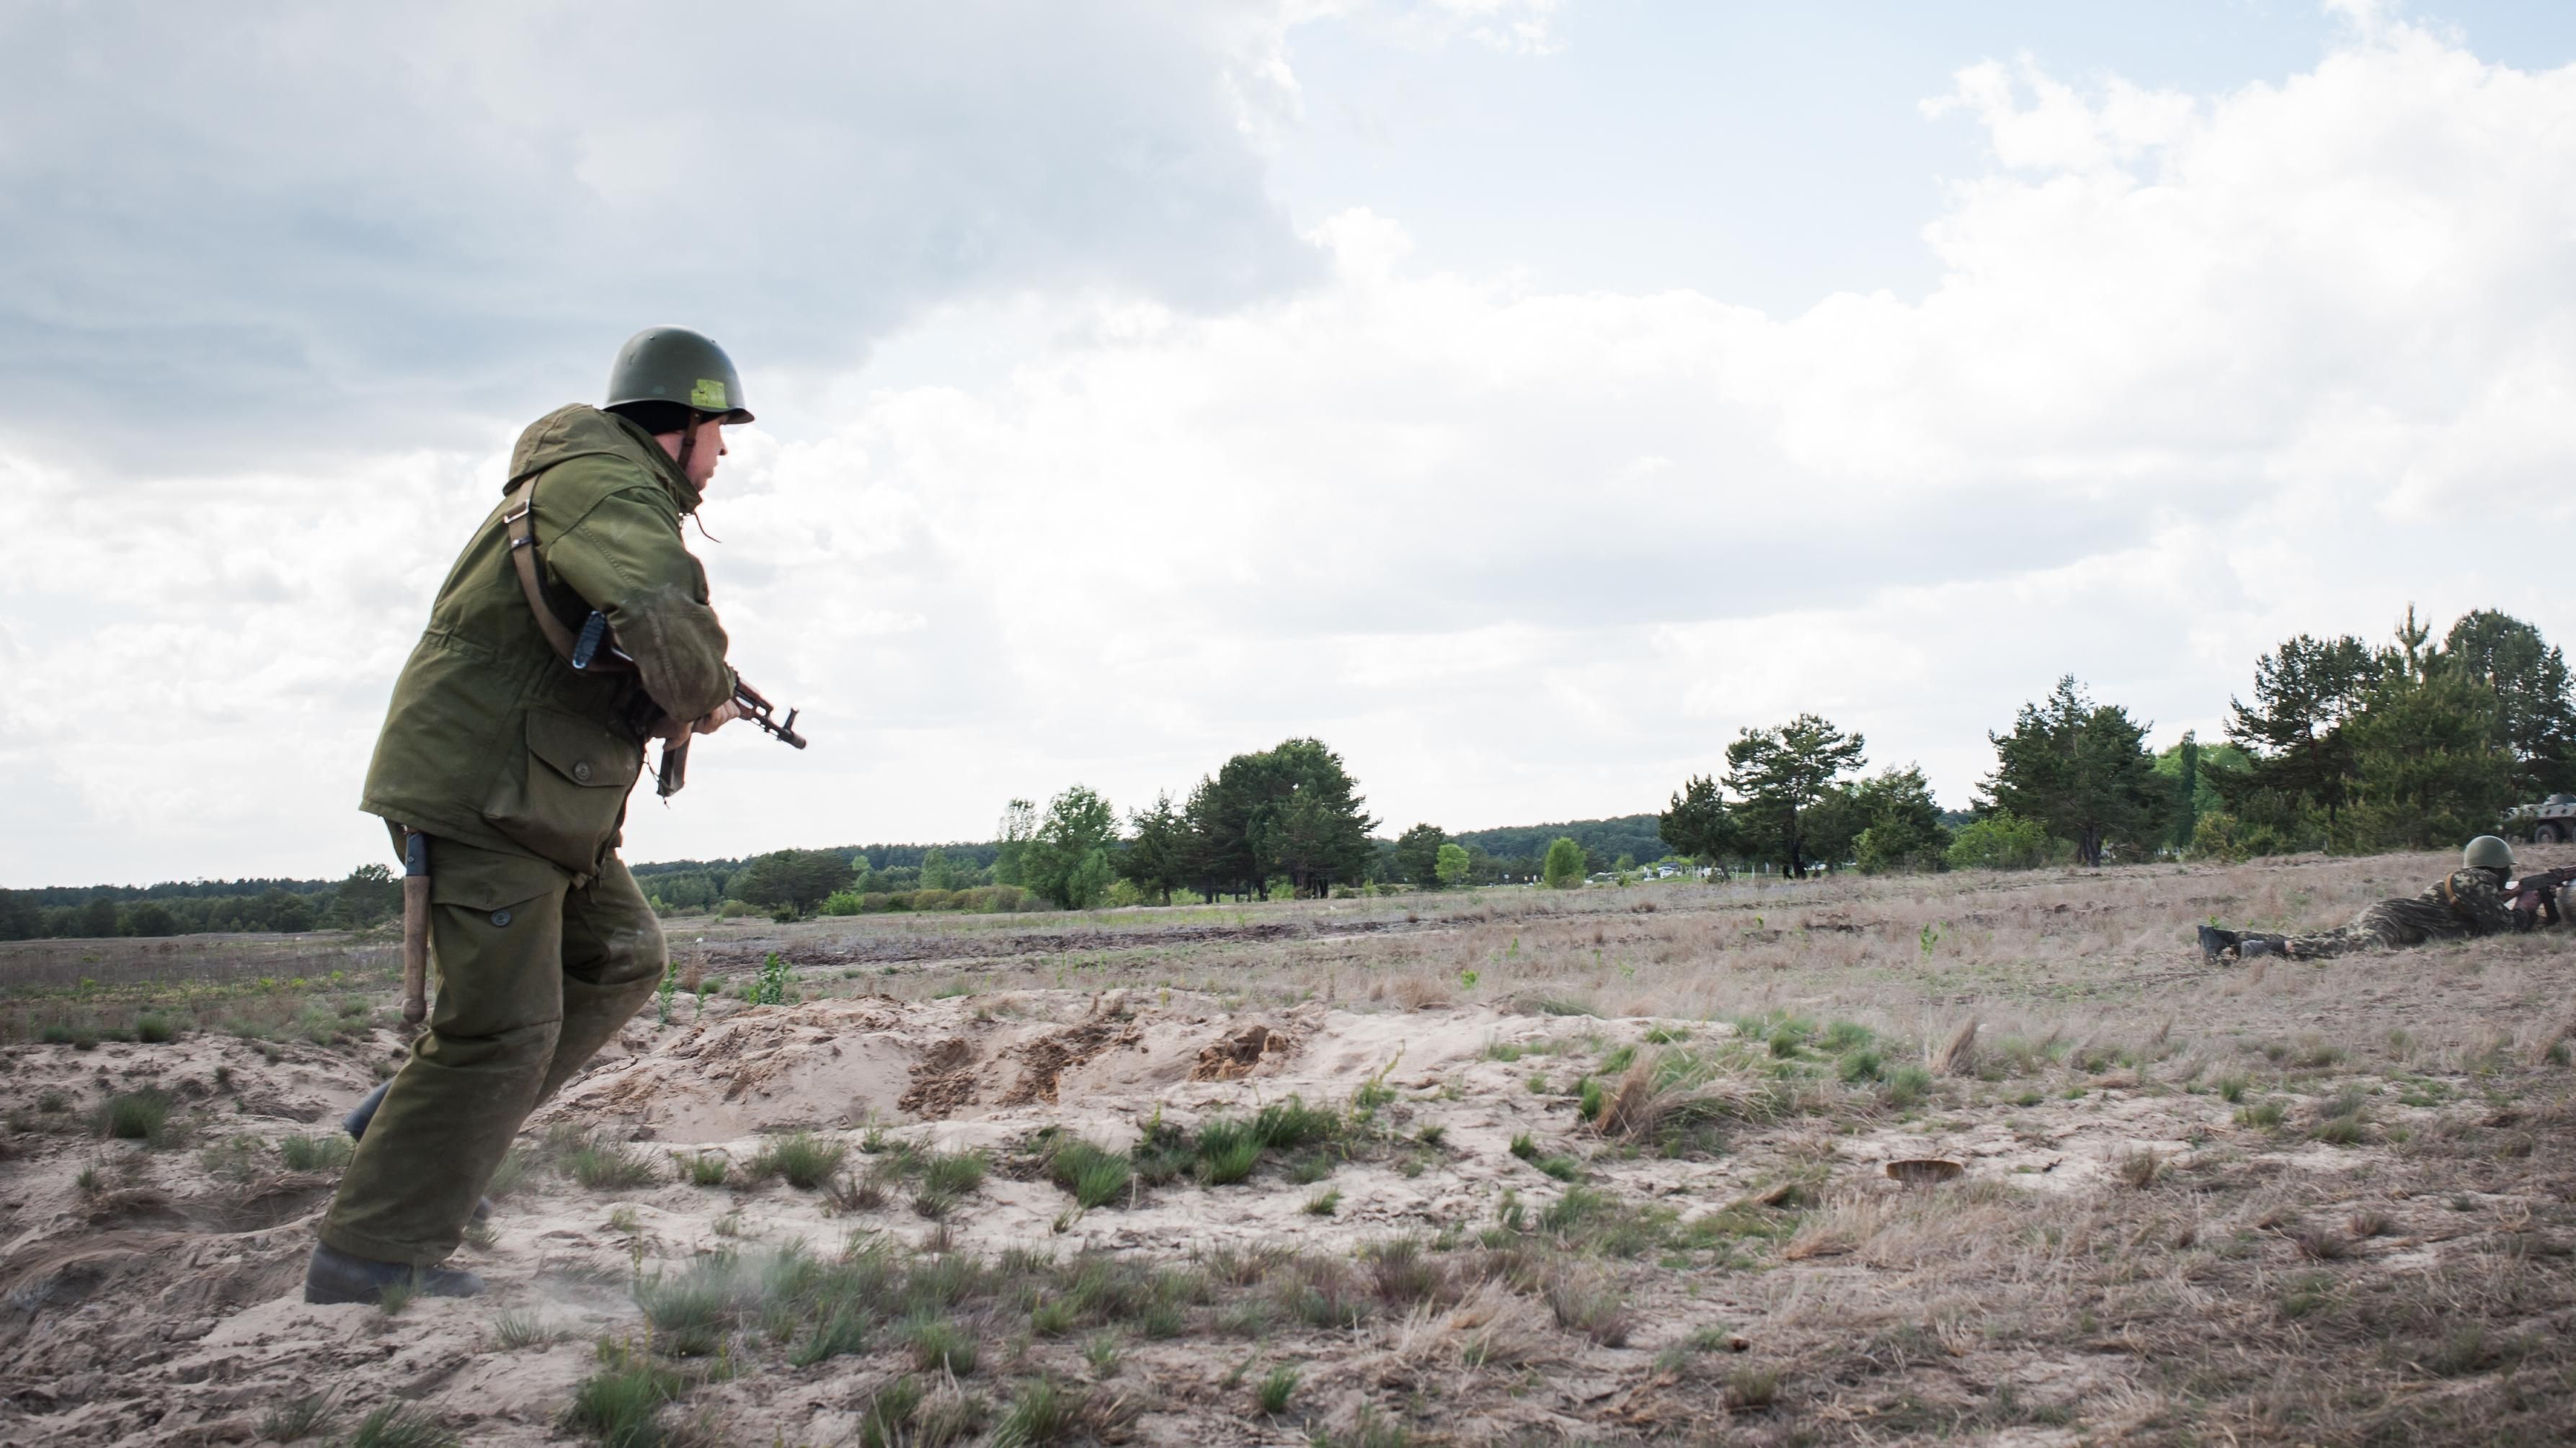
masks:
<path fill-rule="evenodd" d="M 2061 672 L 2164 742 L 2295 631 L 2576 631 L 2566 5 L 598 15 L 0 8 L 0 884 L 381 855 L 438 577 L 652 322 L 814 747 L 631 858 L 1291 734 L 1620 814 L 1801 709 L 1965 804 Z"/>

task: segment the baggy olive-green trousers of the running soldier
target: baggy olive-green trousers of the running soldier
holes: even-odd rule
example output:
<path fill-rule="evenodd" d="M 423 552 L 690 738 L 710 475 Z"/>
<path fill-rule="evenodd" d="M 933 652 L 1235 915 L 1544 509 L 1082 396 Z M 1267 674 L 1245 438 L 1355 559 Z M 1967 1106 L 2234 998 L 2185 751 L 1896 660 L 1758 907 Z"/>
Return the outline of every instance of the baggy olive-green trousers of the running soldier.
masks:
<path fill-rule="evenodd" d="M 322 1242 L 428 1268 L 464 1239 L 510 1139 L 662 982 L 662 925 L 626 863 L 580 881 L 430 843 L 428 1031 L 340 1177 Z"/>

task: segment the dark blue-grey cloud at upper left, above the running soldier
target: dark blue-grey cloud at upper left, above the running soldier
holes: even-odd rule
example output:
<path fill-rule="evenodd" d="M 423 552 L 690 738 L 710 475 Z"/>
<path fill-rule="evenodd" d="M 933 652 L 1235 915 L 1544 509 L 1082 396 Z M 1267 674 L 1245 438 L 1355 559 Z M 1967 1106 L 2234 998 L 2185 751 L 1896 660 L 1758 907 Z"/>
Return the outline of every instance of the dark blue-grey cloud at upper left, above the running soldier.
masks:
<path fill-rule="evenodd" d="M 1311 276 L 1265 0 L 106 0 L 0 52 L 5 425 L 111 461 L 456 446 L 662 319 L 855 366 L 989 286 Z"/>

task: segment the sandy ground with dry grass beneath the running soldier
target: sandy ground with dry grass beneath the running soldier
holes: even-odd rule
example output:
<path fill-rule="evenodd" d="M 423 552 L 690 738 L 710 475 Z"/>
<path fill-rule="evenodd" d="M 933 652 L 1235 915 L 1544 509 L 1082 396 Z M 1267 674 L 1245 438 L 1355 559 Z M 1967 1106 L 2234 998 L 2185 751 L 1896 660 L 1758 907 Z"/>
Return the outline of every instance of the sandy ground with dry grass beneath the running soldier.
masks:
<path fill-rule="evenodd" d="M 783 948 L 806 1000 L 683 995 L 670 1025 L 639 1018 L 528 1144 L 626 1141 L 652 1183 L 533 1170 L 459 1255 L 492 1291 L 399 1314 L 301 1301 L 332 1175 L 273 1152 L 330 1134 L 397 1033 L 13 1043 L 0 1443 L 250 1443 L 312 1391 L 340 1394 L 340 1433 L 410 1402 L 466 1443 L 559 1443 L 598 1342 L 652 1342 L 634 1283 L 711 1255 L 873 1239 L 1365 1262 L 1417 1237 L 1461 1262 L 1486 1242 L 1489 1262 L 1520 1250 L 1497 1224 L 1569 1193 L 1551 1159 L 1659 1221 L 1651 1239 L 1561 1239 L 1522 1278 L 1458 1268 L 1453 1291 L 1327 1329 L 1221 1327 L 1252 1288 L 1218 1270 L 1188 1329 L 1128 1337 L 1113 1371 L 1025 1317 L 994 1322 L 961 1391 L 1084 1384 L 1097 1412 L 1074 1438 L 1175 1445 L 1360 1440 L 1370 1422 L 1414 1443 L 2543 1440 L 2576 1404 L 2576 956 L 2517 938 L 2239 969 L 2182 946 L 2213 912 L 2349 912 L 2411 866 L 675 933 L 719 979 Z M 1814 1036 L 1775 1054 L 1783 1020 L 1868 1025 L 1878 1059 L 1844 1080 L 1852 1054 Z M 1579 1116 L 1582 1080 L 1615 1087 L 1618 1056 L 1662 1051 L 1783 1095 L 1672 1154 Z M 1906 1067 L 1919 1095 L 1891 1087 Z M 178 1100 L 185 1144 L 80 1129 L 137 1087 Z M 1265 1162 L 1090 1211 L 1036 1167 L 1046 1131 L 1123 1152 L 1288 1098 L 1360 1110 L 1368 1147 L 1311 1183 Z M 788 1134 L 848 1147 L 845 1190 L 742 1185 Z M 219 1170 L 234 1139 L 258 1152 Z M 938 1221 L 891 1175 L 848 1190 L 907 1147 L 992 1170 Z M 729 1159 L 734 1185 L 688 1185 L 696 1154 Z M 1960 1175 L 1901 1185 L 1899 1159 Z M 1311 1211 L 1321 1190 L 1332 1214 Z M 1571 1281 L 1605 1283 L 1625 1327 L 1551 1317 Z M 1522 1348 L 1461 1348 L 1494 1319 Z M 665 1409 L 680 1438 L 858 1440 L 907 1371 L 894 1353 L 799 1368 L 757 1332 L 726 1353 Z M 1280 1363 L 1296 1407 L 1262 1415 L 1244 1368 Z"/>

